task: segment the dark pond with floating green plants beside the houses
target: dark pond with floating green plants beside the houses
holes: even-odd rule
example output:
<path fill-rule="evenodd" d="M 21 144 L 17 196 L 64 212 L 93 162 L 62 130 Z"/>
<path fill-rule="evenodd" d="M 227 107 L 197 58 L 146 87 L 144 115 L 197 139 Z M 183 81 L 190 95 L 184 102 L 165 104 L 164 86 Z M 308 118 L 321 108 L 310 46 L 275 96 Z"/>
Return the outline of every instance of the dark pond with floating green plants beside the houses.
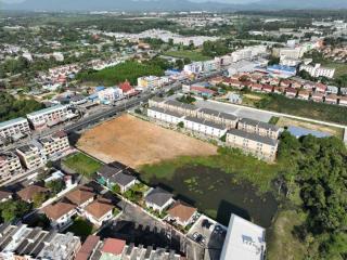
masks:
<path fill-rule="evenodd" d="M 145 173 L 141 173 L 143 176 Z M 160 185 L 207 216 L 228 225 L 235 213 L 264 227 L 271 225 L 278 203 L 271 193 L 259 196 L 248 182 L 236 182 L 232 174 L 204 166 L 184 166 L 170 179 L 152 177 L 149 184 Z"/>

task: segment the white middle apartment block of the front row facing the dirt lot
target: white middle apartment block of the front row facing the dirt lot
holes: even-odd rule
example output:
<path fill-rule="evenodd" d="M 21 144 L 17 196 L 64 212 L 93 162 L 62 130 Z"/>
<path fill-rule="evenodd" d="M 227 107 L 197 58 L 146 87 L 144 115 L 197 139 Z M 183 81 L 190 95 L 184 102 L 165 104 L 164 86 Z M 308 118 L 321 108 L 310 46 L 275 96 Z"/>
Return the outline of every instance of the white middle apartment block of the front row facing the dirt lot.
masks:
<path fill-rule="evenodd" d="M 198 132 L 205 135 L 221 138 L 227 133 L 227 127 L 208 121 L 206 119 L 200 119 L 196 117 L 184 117 L 184 128 L 193 132 Z"/>

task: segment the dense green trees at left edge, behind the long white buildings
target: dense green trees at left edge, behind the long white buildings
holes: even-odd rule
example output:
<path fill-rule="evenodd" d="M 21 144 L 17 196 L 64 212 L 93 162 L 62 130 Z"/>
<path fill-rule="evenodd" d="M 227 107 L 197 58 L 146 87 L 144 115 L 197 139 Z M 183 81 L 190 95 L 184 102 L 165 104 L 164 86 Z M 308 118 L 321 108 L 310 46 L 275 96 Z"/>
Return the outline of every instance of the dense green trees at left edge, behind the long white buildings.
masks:
<path fill-rule="evenodd" d="M 0 93 L 0 121 L 25 116 L 28 113 L 44 108 L 35 100 L 16 100 L 8 93 Z"/>

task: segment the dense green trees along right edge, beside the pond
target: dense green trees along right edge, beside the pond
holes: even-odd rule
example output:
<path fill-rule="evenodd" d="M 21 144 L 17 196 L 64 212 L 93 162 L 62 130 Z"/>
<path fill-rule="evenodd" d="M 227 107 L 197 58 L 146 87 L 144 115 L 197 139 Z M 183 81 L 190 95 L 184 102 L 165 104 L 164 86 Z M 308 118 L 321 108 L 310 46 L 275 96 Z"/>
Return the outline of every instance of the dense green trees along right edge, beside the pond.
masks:
<path fill-rule="evenodd" d="M 307 213 L 295 236 L 308 245 L 304 259 L 347 258 L 347 150 L 336 138 L 312 135 L 297 140 L 281 136 L 279 161 L 286 165 L 282 177 L 291 193 L 299 191 Z"/>

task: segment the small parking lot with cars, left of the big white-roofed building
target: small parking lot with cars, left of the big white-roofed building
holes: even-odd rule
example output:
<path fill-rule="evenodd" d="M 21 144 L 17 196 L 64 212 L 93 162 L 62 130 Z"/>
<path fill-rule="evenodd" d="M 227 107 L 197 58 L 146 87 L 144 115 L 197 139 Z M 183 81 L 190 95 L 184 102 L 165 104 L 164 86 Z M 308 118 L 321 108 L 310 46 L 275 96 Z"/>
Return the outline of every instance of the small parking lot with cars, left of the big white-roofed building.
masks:
<path fill-rule="evenodd" d="M 226 239 L 227 229 L 202 216 L 188 233 L 188 237 L 200 244 L 205 260 L 218 260 Z"/>

